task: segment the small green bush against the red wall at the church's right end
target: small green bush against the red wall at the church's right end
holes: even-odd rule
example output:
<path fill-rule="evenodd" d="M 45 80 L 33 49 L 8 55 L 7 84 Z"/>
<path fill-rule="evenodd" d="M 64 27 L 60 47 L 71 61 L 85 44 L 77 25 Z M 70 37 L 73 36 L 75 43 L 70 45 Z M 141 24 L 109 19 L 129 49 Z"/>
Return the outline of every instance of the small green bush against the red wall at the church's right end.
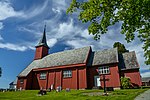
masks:
<path fill-rule="evenodd" d="M 130 79 L 127 77 L 121 77 L 121 86 L 123 89 L 128 89 L 131 86 Z"/>

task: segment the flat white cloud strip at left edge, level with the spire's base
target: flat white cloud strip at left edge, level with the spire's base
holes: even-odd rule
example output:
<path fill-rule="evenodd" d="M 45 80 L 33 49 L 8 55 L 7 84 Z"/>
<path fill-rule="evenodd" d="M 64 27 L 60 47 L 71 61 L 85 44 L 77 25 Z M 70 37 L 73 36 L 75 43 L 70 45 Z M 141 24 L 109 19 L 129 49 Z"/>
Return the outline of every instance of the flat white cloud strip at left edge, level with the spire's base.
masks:
<path fill-rule="evenodd" d="M 11 43 L 0 43 L 0 48 L 5 48 L 8 50 L 14 50 L 14 51 L 25 51 L 28 49 L 26 46 L 20 46 L 20 45 L 11 44 Z"/>

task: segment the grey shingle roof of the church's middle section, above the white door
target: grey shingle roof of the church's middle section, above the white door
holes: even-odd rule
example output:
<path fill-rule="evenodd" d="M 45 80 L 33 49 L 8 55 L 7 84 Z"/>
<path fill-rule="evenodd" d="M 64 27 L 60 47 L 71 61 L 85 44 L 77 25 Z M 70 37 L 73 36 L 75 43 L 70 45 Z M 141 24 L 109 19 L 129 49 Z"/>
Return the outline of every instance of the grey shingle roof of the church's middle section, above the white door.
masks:
<path fill-rule="evenodd" d="M 93 56 L 93 66 L 118 63 L 117 48 L 107 49 L 103 51 L 95 51 L 93 52 Z"/>

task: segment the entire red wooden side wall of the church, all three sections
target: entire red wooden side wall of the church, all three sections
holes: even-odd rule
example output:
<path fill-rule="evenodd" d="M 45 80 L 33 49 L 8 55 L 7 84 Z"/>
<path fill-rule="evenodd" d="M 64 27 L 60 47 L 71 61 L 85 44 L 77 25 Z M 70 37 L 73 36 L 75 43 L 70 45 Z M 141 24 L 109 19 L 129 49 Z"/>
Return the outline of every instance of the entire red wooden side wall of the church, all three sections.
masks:
<path fill-rule="evenodd" d="M 108 65 L 110 73 L 105 75 L 106 87 L 120 88 L 120 76 L 119 69 L 117 64 Z M 98 67 L 92 66 L 86 68 L 86 66 L 76 66 L 70 68 L 60 68 L 60 69 L 49 69 L 44 72 L 47 73 L 46 79 L 40 79 L 40 72 L 32 71 L 27 77 L 19 77 L 17 82 L 17 88 L 19 89 L 48 89 L 51 85 L 56 87 L 61 86 L 62 89 L 71 88 L 71 89 L 86 89 L 93 88 L 94 76 L 100 76 L 100 79 L 103 79 L 101 75 L 98 74 Z M 72 70 L 72 77 L 63 78 L 63 70 Z M 133 85 L 141 86 L 141 77 L 138 69 L 135 70 L 126 70 L 121 72 L 126 77 L 130 77 L 130 80 Z M 24 79 L 23 84 L 20 83 L 20 79 Z M 103 81 L 101 81 L 101 86 L 104 87 Z"/>

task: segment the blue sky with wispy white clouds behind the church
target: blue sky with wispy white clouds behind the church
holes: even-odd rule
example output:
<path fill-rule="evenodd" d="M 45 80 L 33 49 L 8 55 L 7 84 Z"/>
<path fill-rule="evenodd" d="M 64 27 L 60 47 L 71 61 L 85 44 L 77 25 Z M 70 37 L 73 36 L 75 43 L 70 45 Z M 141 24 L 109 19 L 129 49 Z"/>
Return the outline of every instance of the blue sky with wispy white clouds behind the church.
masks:
<path fill-rule="evenodd" d="M 93 40 L 87 25 L 77 20 L 78 12 L 67 15 L 71 0 L 0 0 L 0 88 L 9 83 L 33 60 L 35 45 L 47 25 L 49 53 L 91 46 L 93 50 L 113 47 L 114 42 L 125 44 L 135 51 L 141 76 L 150 76 L 150 66 L 144 64 L 142 43 L 138 38 L 131 43 L 120 34 L 120 24 L 109 27 L 101 40 Z"/>

